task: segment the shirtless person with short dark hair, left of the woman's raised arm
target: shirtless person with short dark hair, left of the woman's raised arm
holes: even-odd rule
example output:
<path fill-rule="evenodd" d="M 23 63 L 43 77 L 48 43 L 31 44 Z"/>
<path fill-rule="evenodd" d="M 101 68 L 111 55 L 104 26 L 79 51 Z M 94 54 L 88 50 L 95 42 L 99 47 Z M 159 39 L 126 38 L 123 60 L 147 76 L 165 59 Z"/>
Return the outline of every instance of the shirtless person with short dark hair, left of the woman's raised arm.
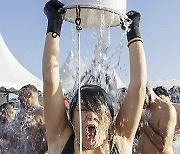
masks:
<path fill-rule="evenodd" d="M 39 103 L 39 93 L 34 85 L 20 89 L 20 112 L 16 117 L 16 132 L 19 132 L 20 153 L 45 153 L 47 151 L 44 110 Z"/>

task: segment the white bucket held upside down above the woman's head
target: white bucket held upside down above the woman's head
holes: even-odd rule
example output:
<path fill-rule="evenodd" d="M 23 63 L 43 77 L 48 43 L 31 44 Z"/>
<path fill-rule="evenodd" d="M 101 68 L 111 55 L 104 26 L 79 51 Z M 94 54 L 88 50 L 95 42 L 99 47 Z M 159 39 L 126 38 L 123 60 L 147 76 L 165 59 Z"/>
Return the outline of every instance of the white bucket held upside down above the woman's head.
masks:
<path fill-rule="evenodd" d="M 121 17 L 126 13 L 126 0 L 61 0 L 61 2 L 66 10 L 65 20 L 75 23 L 79 12 L 83 28 L 101 27 L 102 24 L 110 27 L 118 26 Z"/>

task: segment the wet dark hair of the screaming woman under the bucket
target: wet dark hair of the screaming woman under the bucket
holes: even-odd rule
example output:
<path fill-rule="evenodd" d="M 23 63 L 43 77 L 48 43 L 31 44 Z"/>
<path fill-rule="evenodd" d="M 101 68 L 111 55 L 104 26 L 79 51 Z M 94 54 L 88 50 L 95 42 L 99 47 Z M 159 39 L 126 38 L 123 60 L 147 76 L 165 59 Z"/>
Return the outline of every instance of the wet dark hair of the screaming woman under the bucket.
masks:
<path fill-rule="evenodd" d="M 109 111 L 111 118 L 114 118 L 114 109 L 112 101 L 109 95 L 106 93 L 104 89 L 97 85 L 84 85 L 80 88 L 81 91 L 81 104 L 85 106 L 88 110 L 93 112 L 100 112 L 101 105 L 105 105 Z M 73 111 L 76 107 L 78 101 L 78 90 L 76 91 L 75 95 L 72 98 L 68 109 L 68 119 L 72 121 Z"/>

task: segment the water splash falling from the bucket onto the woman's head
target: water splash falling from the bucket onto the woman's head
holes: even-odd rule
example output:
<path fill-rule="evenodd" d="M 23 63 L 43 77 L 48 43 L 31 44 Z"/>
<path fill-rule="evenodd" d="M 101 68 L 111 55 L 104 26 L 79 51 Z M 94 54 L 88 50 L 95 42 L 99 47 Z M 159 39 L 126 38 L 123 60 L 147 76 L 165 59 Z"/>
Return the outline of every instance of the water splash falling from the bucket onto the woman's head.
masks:
<path fill-rule="evenodd" d="M 113 18 L 113 16 L 112 16 Z M 113 20 L 113 19 L 112 19 Z M 123 26 L 127 27 L 129 25 L 129 21 L 126 16 L 122 17 Z M 85 47 L 81 47 L 81 57 L 82 57 L 82 65 L 81 65 L 81 82 L 83 84 L 96 84 L 104 88 L 107 92 L 112 95 L 117 95 L 117 90 L 120 87 L 123 87 L 123 83 L 117 83 L 118 75 L 116 73 L 116 69 L 120 65 L 121 61 L 121 53 L 123 49 L 123 40 L 127 33 L 128 28 L 124 29 L 122 36 L 120 37 L 120 42 L 116 47 L 113 48 L 111 43 L 111 29 L 105 25 L 104 14 L 101 15 L 101 26 L 99 28 L 90 31 L 92 34 L 92 41 L 89 41 Z M 87 38 L 87 33 L 84 33 Z M 82 36 L 83 34 L 81 34 Z M 89 35 L 88 35 L 89 37 Z M 83 38 L 83 36 L 82 36 Z M 78 75 L 78 67 L 77 67 L 77 36 L 75 36 L 74 30 L 72 31 L 72 42 L 73 47 L 71 51 L 71 55 L 68 57 L 69 60 L 66 61 L 63 67 L 64 77 L 62 77 L 63 88 L 67 89 L 66 86 L 68 82 L 71 83 L 71 89 L 65 90 L 65 95 L 69 98 L 72 97 L 74 91 L 77 89 L 77 75 Z M 84 40 L 83 40 L 84 41 Z M 92 42 L 92 43 L 91 43 Z M 83 43 L 81 43 L 83 44 Z M 95 44 L 95 45 L 94 45 Z M 82 49 L 83 48 L 83 49 Z M 67 75 L 67 76 L 66 76 Z M 63 76 L 63 75 L 62 75 Z M 66 77 L 65 77 L 66 76 Z M 68 77 L 69 76 L 69 77 Z M 70 81 L 68 81 L 68 79 Z M 65 80 L 63 80 L 65 79 Z M 73 85 L 73 86 L 72 86 Z M 115 100 L 117 102 L 117 100 Z"/>

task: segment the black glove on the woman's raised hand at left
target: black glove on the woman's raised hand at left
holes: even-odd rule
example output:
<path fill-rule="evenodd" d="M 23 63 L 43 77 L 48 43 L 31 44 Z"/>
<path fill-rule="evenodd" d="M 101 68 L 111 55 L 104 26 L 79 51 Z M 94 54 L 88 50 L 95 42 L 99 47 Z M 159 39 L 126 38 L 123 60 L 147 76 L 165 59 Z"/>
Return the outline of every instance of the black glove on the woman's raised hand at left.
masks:
<path fill-rule="evenodd" d="M 47 16 L 48 19 L 48 27 L 47 32 L 53 32 L 53 37 L 56 37 L 57 35 L 60 36 L 60 30 L 63 22 L 62 14 L 65 13 L 65 11 L 58 12 L 60 8 L 62 8 L 64 5 L 59 2 L 58 0 L 50 0 L 46 3 L 44 7 L 44 13 Z"/>

